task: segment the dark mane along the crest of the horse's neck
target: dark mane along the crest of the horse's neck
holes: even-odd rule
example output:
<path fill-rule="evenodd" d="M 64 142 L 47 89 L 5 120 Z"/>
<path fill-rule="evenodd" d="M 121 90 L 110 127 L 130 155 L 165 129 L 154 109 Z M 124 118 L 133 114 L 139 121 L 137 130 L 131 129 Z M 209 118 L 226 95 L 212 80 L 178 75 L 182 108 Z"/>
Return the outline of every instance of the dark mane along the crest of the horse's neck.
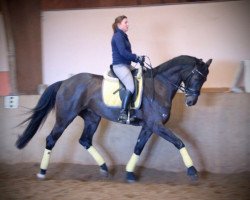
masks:
<path fill-rule="evenodd" d="M 181 55 L 168 60 L 153 69 L 154 75 L 162 73 L 174 66 L 193 65 L 198 59 L 188 55 Z"/>

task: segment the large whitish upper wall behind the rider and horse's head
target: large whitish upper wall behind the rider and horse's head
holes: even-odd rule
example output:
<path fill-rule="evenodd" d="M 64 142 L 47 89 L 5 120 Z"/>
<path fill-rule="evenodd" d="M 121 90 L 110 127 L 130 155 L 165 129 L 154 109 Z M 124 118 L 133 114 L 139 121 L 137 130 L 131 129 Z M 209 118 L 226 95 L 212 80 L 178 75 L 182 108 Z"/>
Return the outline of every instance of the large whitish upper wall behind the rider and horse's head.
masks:
<path fill-rule="evenodd" d="M 213 58 L 205 87 L 230 87 L 240 61 L 250 58 L 249 11 L 242 0 L 43 12 L 43 81 L 103 74 L 111 63 L 111 24 L 125 14 L 135 53 L 154 66 L 181 54 Z"/>

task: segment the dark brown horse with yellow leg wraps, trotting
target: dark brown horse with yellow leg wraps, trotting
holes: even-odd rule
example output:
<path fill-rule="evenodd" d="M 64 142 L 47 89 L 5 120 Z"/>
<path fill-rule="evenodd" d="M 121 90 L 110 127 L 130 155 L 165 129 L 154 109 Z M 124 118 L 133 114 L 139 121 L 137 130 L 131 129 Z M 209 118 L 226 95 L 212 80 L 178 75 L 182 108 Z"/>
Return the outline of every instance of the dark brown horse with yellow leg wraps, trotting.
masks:
<path fill-rule="evenodd" d="M 198 172 L 183 141 L 172 130 L 165 126 L 170 117 L 172 100 L 178 89 L 185 93 L 187 106 L 196 104 L 203 83 L 207 79 L 212 59 L 206 63 L 196 57 L 182 55 L 172 58 L 151 70 L 143 70 L 143 95 L 139 109 L 134 110 L 135 121 L 129 125 L 141 126 L 134 152 L 126 165 L 125 179 L 127 182 L 137 180 L 134 172 L 141 152 L 152 136 L 156 134 L 172 143 L 180 152 L 187 175 L 198 179 Z M 153 81 L 152 81 L 153 80 Z M 118 122 L 120 108 L 106 106 L 102 99 L 103 76 L 80 73 L 66 80 L 58 81 L 44 91 L 28 122 L 23 134 L 16 141 L 18 149 L 24 148 L 36 134 L 49 112 L 55 108 L 56 122 L 46 137 L 46 147 L 40 165 L 38 178 L 45 178 L 50 154 L 57 140 L 67 126 L 77 117 L 84 120 L 84 130 L 79 143 L 92 155 L 100 167 L 100 171 L 108 175 L 109 170 L 105 160 L 92 144 L 93 135 L 101 118 Z M 153 84 L 152 84 L 153 83 Z M 182 86 L 184 84 L 184 86 Z"/>

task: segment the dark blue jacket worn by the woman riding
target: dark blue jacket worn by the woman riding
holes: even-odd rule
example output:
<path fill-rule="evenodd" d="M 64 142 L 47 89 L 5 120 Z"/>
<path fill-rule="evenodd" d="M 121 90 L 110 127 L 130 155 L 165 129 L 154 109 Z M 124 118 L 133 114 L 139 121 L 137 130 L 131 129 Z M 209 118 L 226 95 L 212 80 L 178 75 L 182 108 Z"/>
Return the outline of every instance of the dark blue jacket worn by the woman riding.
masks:
<path fill-rule="evenodd" d="M 137 56 L 132 53 L 131 44 L 125 32 L 117 28 L 111 40 L 113 65 L 130 65 L 136 62 Z"/>

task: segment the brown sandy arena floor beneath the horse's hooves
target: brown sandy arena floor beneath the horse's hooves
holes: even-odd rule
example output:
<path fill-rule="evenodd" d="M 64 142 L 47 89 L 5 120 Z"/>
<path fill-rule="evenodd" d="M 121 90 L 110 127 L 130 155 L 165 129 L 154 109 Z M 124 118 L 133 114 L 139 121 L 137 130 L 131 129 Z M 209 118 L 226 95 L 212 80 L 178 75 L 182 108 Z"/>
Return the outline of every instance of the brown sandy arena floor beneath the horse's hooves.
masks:
<path fill-rule="evenodd" d="M 125 166 L 115 166 L 103 177 L 97 166 L 50 164 L 46 180 L 37 180 L 39 164 L 0 166 L 0 200 L 7 199 L 199 199 L 250 200 L 250 172 L 201 173 L 197 182 L 185 173 L 138 168 L 140 179 L 128 184 Z"/>

